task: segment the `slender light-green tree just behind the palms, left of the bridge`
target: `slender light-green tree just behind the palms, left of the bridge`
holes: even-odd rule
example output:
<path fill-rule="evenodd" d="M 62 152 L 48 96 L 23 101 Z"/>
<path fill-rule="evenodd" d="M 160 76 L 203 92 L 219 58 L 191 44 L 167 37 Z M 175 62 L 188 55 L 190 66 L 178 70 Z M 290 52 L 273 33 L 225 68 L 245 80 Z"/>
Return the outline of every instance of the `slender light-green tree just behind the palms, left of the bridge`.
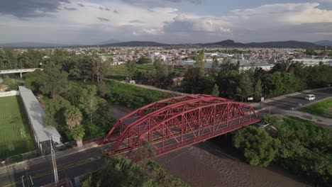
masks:
<path fill-rule="evenodd" d="M 92 123 L 92 115 L 99 108 L 99 104 L 106 102 L 104 99 L 96 96 L 96 86 L 88 85 L 87 89 L 83 89 L 80 98 L 81 108 L 89 115 L 90 123 Z"/>

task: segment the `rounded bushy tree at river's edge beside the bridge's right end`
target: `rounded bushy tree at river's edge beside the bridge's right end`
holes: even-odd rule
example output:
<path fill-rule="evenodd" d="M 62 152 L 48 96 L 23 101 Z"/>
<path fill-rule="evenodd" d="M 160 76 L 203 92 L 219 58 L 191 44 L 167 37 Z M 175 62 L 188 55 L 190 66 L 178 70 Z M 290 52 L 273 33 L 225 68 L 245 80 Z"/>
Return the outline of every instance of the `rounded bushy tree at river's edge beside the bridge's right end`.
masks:
<path fill-rule="evenodd" d="M 280 148 L 280 140 L 273 139 L 262 128 L 247 126 L 235 132 L 233 146 L 243 152 L 246 162 L 268 166 Z"/>

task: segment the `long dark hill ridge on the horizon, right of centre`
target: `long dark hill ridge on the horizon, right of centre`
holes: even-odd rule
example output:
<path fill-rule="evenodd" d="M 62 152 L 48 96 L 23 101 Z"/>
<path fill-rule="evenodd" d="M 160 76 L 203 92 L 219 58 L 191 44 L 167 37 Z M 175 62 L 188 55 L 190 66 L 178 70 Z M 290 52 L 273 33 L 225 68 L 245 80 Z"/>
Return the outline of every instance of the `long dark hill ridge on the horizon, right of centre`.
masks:
<path fill-rule="evenodd" d="M 303 47 L 318 47 L 312 42 L 299 42 L 299 41 L 282 41 L 282 42 L 250 42 L 250 43 L 241 43 L 234 42 L 233 40 L 223 40 L 221 42 L 212 42 L 200 44 L 204 46 L 209 45 L 219 45 L 225 47 L 292 47 L 292 48 L 303 48 Z"/>

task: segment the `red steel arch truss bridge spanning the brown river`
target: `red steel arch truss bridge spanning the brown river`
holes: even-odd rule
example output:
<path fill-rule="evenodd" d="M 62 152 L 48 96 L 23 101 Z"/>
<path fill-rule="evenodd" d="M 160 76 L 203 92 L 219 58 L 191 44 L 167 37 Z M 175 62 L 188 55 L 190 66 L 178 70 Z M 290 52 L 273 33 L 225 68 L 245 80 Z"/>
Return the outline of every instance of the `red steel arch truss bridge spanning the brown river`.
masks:
<path fill-rule="evenodd" d="M 177 96 L 123 116 L 99 145 L 111 142 L 108 154 L 135 158 L 135 151 L 149 142 L 158 156 L 259 121 L 244 103 L 203 94 Z"/>

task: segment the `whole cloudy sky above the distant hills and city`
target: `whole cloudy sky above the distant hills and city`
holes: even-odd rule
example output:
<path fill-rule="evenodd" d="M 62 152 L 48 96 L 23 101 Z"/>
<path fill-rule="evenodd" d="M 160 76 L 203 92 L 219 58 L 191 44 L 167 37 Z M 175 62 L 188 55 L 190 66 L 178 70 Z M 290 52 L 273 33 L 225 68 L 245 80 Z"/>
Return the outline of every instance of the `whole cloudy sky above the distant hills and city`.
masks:
<path fill-rule="evenodd" d="M 0 43 L 332 40 L 332 0 L 0 0 Z"/>

